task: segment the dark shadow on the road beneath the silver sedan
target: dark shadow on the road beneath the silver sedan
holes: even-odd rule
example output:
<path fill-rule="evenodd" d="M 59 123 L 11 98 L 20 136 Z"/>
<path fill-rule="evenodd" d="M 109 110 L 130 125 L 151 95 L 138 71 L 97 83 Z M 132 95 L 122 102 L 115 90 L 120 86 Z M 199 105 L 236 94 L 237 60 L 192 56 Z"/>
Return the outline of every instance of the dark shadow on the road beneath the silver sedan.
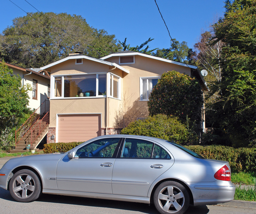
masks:
<path fill-rule="evenodd" d="M 0 188 L 0 198 L 7 201 L 14 201 L 10 195 L 10 192 Z M 151 204 L 142 204 L 136 202 L 122 202 L 122 201 L 113 201 L 106 199 L 91 199 L 75 196 L 60 196 L 60 195 L 50 195 L 42 194 L 37 201 L 48 202 L 48 203 L 57 203 L 57 204 L 72 204 L 72 205 L 81 205 L 89 207 L 107 207 L 111 209 L 119 210 L 131 210 L 147 214 L 159 214 L 155 209 L 154 205 Z M 17 202 L 19 203 L 19 202 Z M 207 206 L 190 206 L 185 214 L 207 214 L 209 209 Z"/>

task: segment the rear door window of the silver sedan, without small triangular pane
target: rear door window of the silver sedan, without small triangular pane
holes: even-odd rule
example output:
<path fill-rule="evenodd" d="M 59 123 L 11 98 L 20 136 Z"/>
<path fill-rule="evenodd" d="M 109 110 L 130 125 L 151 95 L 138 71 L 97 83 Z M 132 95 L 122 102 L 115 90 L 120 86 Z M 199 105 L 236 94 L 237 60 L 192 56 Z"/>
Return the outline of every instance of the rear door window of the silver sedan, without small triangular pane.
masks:
<path fill-rule="evenodd" d="M 126 138 L 122 158 L 151 158 L 154 144 L 149 141 Z"/>

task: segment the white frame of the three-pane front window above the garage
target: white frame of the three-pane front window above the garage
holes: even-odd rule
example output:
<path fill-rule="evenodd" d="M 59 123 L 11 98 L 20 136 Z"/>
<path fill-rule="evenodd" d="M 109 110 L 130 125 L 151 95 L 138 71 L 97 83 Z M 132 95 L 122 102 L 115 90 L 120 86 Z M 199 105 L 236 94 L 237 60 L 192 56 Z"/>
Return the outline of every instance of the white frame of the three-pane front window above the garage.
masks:
<path fill-rule="evenodd" d="M 108 81 L 108 74 L 105 72 L 102 73 L 84 73 L 84 75 L 86 74 L 96 74 L 96 92 L 99 89 L 99 74 L 106 74 L 106 79 Z M 81 99 L 81 98 L 92 98 L 92 97 L 64 97 L 64 76 L 75 76 L 75 75 L 83 75 L 81 73 L 79 74 L 65 74 L 65 75 L 51 75 L 51 84 L 50 84 L 50 99 Z M 55 97 L 55 77 L 61 77 L 61 96 L 60 97 Z M 107 90 L 107 85 L 106 85 L 106 90 Z M 106 97 L 106 95 L 98 95 L 96 93 L 95 97 Z"/>

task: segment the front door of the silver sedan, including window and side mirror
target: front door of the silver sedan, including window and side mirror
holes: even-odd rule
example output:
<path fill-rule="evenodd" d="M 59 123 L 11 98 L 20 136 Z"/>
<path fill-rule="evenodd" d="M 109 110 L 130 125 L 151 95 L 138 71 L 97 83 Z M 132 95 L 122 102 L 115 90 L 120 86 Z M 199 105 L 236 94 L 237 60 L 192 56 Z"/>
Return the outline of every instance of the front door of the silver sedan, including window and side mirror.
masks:
<path fill-rule="evenodd" d="M 57 165 L 58 190 L 112 194 L 112 170 L 120 139 L 98 139 L 78 148 L 74 158 L 65 155 Z"/>

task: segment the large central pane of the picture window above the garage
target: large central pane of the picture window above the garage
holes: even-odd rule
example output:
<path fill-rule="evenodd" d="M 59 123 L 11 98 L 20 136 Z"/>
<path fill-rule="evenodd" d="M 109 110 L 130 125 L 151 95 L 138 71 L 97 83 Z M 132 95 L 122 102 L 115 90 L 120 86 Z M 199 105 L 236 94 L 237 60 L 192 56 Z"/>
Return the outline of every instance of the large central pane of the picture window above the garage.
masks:
<path fill-rule="evenodd" d="M 96 96 L 96 74 L 64 76 L 64 97 L 77 96 Z"/>

